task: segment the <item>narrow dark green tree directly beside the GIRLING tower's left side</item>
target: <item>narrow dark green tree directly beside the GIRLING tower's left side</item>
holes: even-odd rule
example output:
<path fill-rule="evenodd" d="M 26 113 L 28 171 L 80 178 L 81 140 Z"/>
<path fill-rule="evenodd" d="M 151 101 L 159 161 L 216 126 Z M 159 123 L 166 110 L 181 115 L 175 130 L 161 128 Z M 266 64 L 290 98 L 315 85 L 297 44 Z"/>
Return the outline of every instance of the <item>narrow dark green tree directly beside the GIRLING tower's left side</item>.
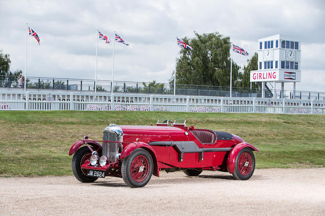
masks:
<path fill-rule="evenodd" d="M 247 66 L 244 65 L 243 73 L 239 74 L 240 81 L 238 82 L 238 87 L 250 88 L 250 71 L 257 70 L 258 56 L 257 53 L 247 60 Z M 256 82 L 252 83 L 252 88 L 258 88 Z"/>

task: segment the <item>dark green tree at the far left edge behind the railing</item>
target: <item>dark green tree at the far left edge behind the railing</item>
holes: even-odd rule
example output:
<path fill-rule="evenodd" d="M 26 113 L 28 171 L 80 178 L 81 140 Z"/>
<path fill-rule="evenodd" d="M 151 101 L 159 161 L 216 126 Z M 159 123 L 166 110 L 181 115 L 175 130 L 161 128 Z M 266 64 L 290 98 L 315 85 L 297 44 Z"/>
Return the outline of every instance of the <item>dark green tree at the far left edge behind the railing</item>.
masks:
<path fill-rule="evenodd" d="M 0 87 L 10 87 L 11 85 L 18 85 L 18 80 L 14 76 L 19 76 L 21 70 L 15 72 L 10 71 L 10 55 L 4 54 L 0 50 Z"/>

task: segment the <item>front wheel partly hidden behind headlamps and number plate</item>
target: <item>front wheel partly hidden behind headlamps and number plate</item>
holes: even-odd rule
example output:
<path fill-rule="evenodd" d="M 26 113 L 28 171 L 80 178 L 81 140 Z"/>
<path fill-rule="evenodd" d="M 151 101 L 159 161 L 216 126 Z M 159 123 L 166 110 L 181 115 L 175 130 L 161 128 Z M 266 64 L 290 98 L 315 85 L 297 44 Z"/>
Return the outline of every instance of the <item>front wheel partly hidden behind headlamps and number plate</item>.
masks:
<path fill-rule="evenodd" d="M 87 146 L 81 147 L 73 155 L 72 171 L 76 179 L 78 179 L 80 182 L 89 183 L 89 182 L 94 182 L 98 179 L 96 177 L 87 176 L 86 170 L 81 168 L 81 164 L 83 164 L 90 157 L 91 157 L 91 151 Z"/>

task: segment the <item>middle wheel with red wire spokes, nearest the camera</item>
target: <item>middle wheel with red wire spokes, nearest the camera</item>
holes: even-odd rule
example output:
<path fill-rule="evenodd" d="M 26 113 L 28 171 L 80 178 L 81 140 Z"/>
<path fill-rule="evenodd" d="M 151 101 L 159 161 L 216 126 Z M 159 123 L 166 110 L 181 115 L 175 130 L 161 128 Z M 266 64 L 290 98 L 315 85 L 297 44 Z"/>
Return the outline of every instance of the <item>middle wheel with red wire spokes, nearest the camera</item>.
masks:
<path fill-rule="evenodd" d="M 135 149 L 122 161 L 122 178 L 129 187 L 145 186 L 151 178 L 152 171 L 152 157 L 144 149 Z"/>

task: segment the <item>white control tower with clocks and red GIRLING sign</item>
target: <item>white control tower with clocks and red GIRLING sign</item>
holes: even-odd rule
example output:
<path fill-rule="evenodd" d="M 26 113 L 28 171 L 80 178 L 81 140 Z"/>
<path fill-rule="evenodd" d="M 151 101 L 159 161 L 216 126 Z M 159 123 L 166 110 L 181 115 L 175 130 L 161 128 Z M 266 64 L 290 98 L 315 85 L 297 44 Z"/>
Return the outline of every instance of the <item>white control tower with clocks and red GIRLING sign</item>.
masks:
<path fill-rule="evenodd" d="M 262 82 L 262 98 L 265 98 L 266 82 L 273 82 L 273 97 L 276 97 L 275 83 L 281 82 L 283 98 L 284 82 L 301 81 L 301 42 L 298 37 L 277 34 L 258 39 L 258 70 L 250 71 L 250 82 Z"/>

